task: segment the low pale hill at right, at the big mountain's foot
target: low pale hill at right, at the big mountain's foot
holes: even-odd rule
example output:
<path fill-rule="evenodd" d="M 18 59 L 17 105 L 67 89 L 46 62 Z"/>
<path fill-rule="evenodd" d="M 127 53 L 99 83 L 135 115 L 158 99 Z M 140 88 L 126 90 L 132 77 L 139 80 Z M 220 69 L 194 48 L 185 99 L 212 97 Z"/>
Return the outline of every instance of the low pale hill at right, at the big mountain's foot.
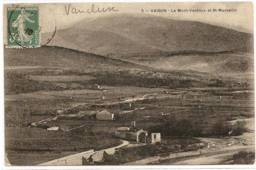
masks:
<path fill-rule="evenodd" d="M 253 54 L 241 52 L 173 51 L 119 55 L 124 61 L 169 70 L 253 72 Z"/>

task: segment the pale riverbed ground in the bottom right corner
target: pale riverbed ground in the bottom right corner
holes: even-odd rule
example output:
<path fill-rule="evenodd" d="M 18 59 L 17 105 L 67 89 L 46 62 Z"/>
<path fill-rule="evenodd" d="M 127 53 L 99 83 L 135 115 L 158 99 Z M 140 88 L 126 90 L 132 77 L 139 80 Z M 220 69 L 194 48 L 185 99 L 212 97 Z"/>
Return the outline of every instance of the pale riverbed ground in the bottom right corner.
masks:
<path fill-rule="evenodd" d="M 221 165 L 227 163 L 239 151 L 255 151 L 254 132 L 241 136 L 220 139 L 200 138 L 206 140 L 208 147 L 201 149 L 201 155 L 168 159 L 157 165 Z"/>

